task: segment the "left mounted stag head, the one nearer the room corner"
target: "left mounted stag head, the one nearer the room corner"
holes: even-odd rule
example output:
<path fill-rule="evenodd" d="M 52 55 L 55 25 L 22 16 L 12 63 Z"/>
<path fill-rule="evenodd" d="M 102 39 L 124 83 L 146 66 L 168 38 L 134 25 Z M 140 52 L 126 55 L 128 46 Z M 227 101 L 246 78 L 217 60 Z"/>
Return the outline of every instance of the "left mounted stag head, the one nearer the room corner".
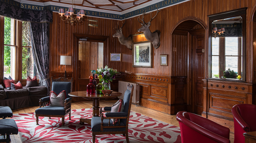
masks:
<path fill-rule="evenodd" d="M 123 23 L 123 22 L 122 22 Z M 126 20 L 125 22 L 123 23 L 123 26 L 119 28 L 119 23 L 118 24 L 118 27 L 116 26 L 114 28 L 114 30 L 116 30 L 116 33 L 113 35 L 113 37 L 118 37 L 118 40 L 119 42 L 122 44 L 122 45 L 125 45 L 128 49 L 132 50 L 132 35 L 129 35 L 127 38 L 124 37 L 123 33 L 122 33 L 122 28 L 124 27 L 124 24 L 126 23 Z"/>

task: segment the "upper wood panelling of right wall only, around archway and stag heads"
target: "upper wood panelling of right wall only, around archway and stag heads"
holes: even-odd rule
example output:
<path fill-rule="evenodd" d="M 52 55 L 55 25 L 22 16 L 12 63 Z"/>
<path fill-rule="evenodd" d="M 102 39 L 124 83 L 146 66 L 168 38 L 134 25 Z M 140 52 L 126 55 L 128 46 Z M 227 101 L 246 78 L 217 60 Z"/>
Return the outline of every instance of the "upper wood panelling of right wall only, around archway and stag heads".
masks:
<path fill-rule="evenodd" d="M 170 6 L 158 13 L 156 18 L 151 21 L 151 32 L 155 30 L 160 30 L 161 32 L 161 45 L 158 49 L 153 50 L 153 68 L 133 68 L 132 60 L 131 60 L 131 52 L 127 51 L 127 48 L 122 48 L 121 52 L 123 53 L 123 62 L 125 66 L 122 66 L 122 72 L 131 72 L 131 73 L 139 73 L 139 74 L 152 74 L 152 75 L 163 75 L 163 76 L 172 76 L 175 75 L 171 73 L 173 71 L 171 65 L 171 47 L 173 47 L 171 42 L 171 32 L 174 27 L 186 17 L 194 17 L 200 21 L 202 21 L 205 25 L 208 25 L 208 17 L 207 15 L 228 11 L 232 9 L 248 7 L 247 9 L 247 41 L 250 43 L 250 15 L 252 12 L 253 6 L 256 4 L 255 0 L 190 0 L 181 4 L 177 4 L 174 6 Z M 156 14 L 156 11 L 152 13 L 152 15 Z M 135 34 L 137 29 L 140 28 L 140 23 L 137 21 L 137 17 L 133 17 L 131 19 L 127 19 L 126 25 L 123 27 L 123 34 L 127 37 L 129 34 Z M 140 17 L 141 18 L 141 17 Z M 145 15 L 145 22 L 150 20 L 150 14 Z M 206 30 L 208 32 L 208 30 Z M 206 37 L 207 39 L 208 37 Z M 181 43 L 177 43 L 181 44 Z M 247 46 L 247 51 L 251 51 L 251 47 Z M 173 51 L 173 50 L 172 50 Z M 160 66 L 160 54 L 168 54 L 168 66 Z M 251 53 L 247 52 L 247 69 L 251 69 Z M 247 71 L 247 81 L 252 81 L 251 71 Z M 180 74 L 180 73 L 179 73 Z M 206 75 L 207 76 L 207 75 Z"/>

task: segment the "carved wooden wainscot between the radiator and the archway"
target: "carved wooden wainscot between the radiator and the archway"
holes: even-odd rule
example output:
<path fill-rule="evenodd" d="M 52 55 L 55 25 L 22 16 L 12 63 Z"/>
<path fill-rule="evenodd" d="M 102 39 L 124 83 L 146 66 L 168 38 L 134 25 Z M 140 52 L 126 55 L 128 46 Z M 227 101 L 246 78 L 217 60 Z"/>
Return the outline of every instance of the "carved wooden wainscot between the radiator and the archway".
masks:
<path fill-rule="evenodd" d="M 139 83 L 140 106 L 167 114 L 187 110 L 186 77 L 121 73 L 121 78 Z"/>

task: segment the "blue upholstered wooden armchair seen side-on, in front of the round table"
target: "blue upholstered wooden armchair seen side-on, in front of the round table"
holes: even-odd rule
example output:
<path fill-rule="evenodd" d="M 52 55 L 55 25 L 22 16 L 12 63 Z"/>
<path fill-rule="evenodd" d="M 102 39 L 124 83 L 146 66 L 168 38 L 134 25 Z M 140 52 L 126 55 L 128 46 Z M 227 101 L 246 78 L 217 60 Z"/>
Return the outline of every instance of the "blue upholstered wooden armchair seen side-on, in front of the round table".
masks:
<path fill-rule="evenodd" d="M 92 127 L 92 140 L 95 143 L 96 135 L 106 135 L 106 134 L 123 134 L 126 137 L 126 142 L 129 143 L 128 137 L 128 124 L 131 111 L 133 96 L 133 85 L 127 86 L 127 90 L 124 94 L 124 111 L 123 112 L 110 112 L 101 113 L 101 117 L 93 117 L 91 120 Z M 111 110 L 111 107 L 105 107 L 104 110 Z M 117 123 L 113 125 L 111 119 L 118 119 Z"/>

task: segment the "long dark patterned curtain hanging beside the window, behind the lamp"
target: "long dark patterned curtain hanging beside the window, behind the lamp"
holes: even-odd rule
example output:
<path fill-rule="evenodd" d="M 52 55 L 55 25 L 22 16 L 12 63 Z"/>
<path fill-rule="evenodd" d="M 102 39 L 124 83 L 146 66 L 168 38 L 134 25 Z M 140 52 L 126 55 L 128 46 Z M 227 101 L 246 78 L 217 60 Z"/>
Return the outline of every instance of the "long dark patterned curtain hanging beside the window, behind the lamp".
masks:
<path fill-rule="evenodd" d="M 49 23 L 30 23 L 31 29 L 31 46 L 33 57 L 35 57 L 35 65 L 39 76 L 39 85 L 48 88 L 50 93 L 49 78 L 49 61 L 50 61 L 50 45 L 49 45 Z"/>

